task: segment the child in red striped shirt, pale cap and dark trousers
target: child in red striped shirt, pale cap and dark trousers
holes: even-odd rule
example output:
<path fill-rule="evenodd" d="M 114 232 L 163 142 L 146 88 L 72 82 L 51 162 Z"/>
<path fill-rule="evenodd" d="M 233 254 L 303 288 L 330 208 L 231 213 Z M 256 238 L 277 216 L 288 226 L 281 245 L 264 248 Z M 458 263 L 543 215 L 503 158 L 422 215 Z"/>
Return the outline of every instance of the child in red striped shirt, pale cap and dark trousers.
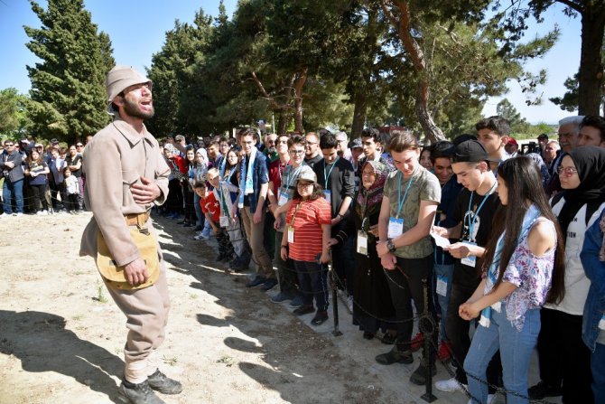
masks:
<path fill-rule="evenodd" d="M 310 167 L 303 167 L 296 179 L 293 202 L 285 218 L 286 227 L 280 251 L 284 261 L 293 259 L 302 292 L 302 306 L 294 315 L 317 312 L 311 324 L 320 325 L 328 319 L 328 273 L 325 264 L 330 261 L 331 213 L 317 177 Z"/>

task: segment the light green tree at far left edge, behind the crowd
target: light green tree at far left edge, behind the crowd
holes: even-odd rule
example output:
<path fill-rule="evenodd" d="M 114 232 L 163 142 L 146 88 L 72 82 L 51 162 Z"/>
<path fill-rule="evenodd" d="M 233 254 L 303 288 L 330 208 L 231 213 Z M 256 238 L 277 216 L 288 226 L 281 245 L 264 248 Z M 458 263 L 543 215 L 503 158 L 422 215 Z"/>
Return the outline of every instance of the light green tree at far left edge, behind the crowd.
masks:
<path fill-rule="evenodd" d="M 27 116 L 29 98 L 17 89 L 0 90 L 0 135 L 13 139 L 24 136 L 32 124 Z"/>

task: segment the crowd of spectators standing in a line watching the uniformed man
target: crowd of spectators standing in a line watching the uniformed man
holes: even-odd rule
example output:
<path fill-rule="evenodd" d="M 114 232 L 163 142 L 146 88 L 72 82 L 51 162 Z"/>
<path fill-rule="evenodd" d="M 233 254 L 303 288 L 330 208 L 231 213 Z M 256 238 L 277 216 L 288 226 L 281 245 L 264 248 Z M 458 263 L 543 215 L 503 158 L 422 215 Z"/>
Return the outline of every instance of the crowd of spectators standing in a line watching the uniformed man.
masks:
<path fill-rule="evenodd" d="M 247 287 L 278 288 L 271 301 L 313 325 L 329 318 L 331 263 L 363 338 L 393 344 L 378 363 L 413 363 L 414 318 L 428 313 L 430 346 L 456 368 L 438 390 L 605 402 L 605 119 L 565 118 L 558 141 L 534 145 L 524 153 L 503 117 L 430 146 L 375 128 L 350 141 L 326 129 L 168 137 L 169 192 L 154 214 L 215 237 L 232 271 L 253 261 Z M 84 209 L 83 146 L 6 140 L 1 217 Z M 435 374 L 431 357 L 411 382 Z"/>

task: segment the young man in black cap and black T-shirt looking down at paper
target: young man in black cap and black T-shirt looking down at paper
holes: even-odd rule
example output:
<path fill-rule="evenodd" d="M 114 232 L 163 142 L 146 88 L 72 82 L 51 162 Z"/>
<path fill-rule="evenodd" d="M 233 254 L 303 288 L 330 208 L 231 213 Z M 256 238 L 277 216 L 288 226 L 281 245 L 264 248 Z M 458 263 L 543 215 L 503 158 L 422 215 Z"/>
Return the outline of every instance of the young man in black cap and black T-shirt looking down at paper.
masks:
<path fill-rule="evenodd" d="M 470 348 L 470 322 L 458 315 L 458 307 L 469 300 L 479 286 L 481 277 L 477 258 L 483 256 L 492 236 L 491 221 L 500 205 L 496 176 L 490 169 L 488 152 L 479 141 L 462 142 L 456 146 L 452 158 L 453 173 L 464 187 L 452 212 L 451 220 L 456 225 L 447 229 L 433 226 L 433 231 L 447 239 L 458 240 L 445 249 L 455 258 L 445 332 L 450 339 L 452 356 L 460 362 L 454 361 L 454 378 L 435 383 L 435 387 L 442 391 L 461 391 L 462 385 L 467 384 L 462 365 Z M 496 356 L 499 358 L 499 355 Z M 498 380 L 495 379 L 498 366 L 496 371 L 492 369 L 493 366 L 488 368 L 488 379 L 493 384 Z M 493 395 L 493 392 L 490 393 Z M 493 396 L 490 396 L 491 399 Z"/>

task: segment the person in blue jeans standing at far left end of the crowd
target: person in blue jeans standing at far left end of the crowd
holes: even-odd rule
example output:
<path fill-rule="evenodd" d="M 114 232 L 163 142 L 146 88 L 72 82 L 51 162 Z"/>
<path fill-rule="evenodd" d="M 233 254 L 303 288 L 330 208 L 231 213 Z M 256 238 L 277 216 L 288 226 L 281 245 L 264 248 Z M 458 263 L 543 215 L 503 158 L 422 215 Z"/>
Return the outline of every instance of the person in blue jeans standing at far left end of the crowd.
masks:
<path fill-rule="evenodd" d="M 3 217 L 11 215 L 23 216 L 23 155 L 19 153 L 12 140 L 5 140 L 5 151 L 0 155 L 0 170 L 5 178 L 2 187 Z M 16 211 L 11 204 L 14 198 Z"/>

